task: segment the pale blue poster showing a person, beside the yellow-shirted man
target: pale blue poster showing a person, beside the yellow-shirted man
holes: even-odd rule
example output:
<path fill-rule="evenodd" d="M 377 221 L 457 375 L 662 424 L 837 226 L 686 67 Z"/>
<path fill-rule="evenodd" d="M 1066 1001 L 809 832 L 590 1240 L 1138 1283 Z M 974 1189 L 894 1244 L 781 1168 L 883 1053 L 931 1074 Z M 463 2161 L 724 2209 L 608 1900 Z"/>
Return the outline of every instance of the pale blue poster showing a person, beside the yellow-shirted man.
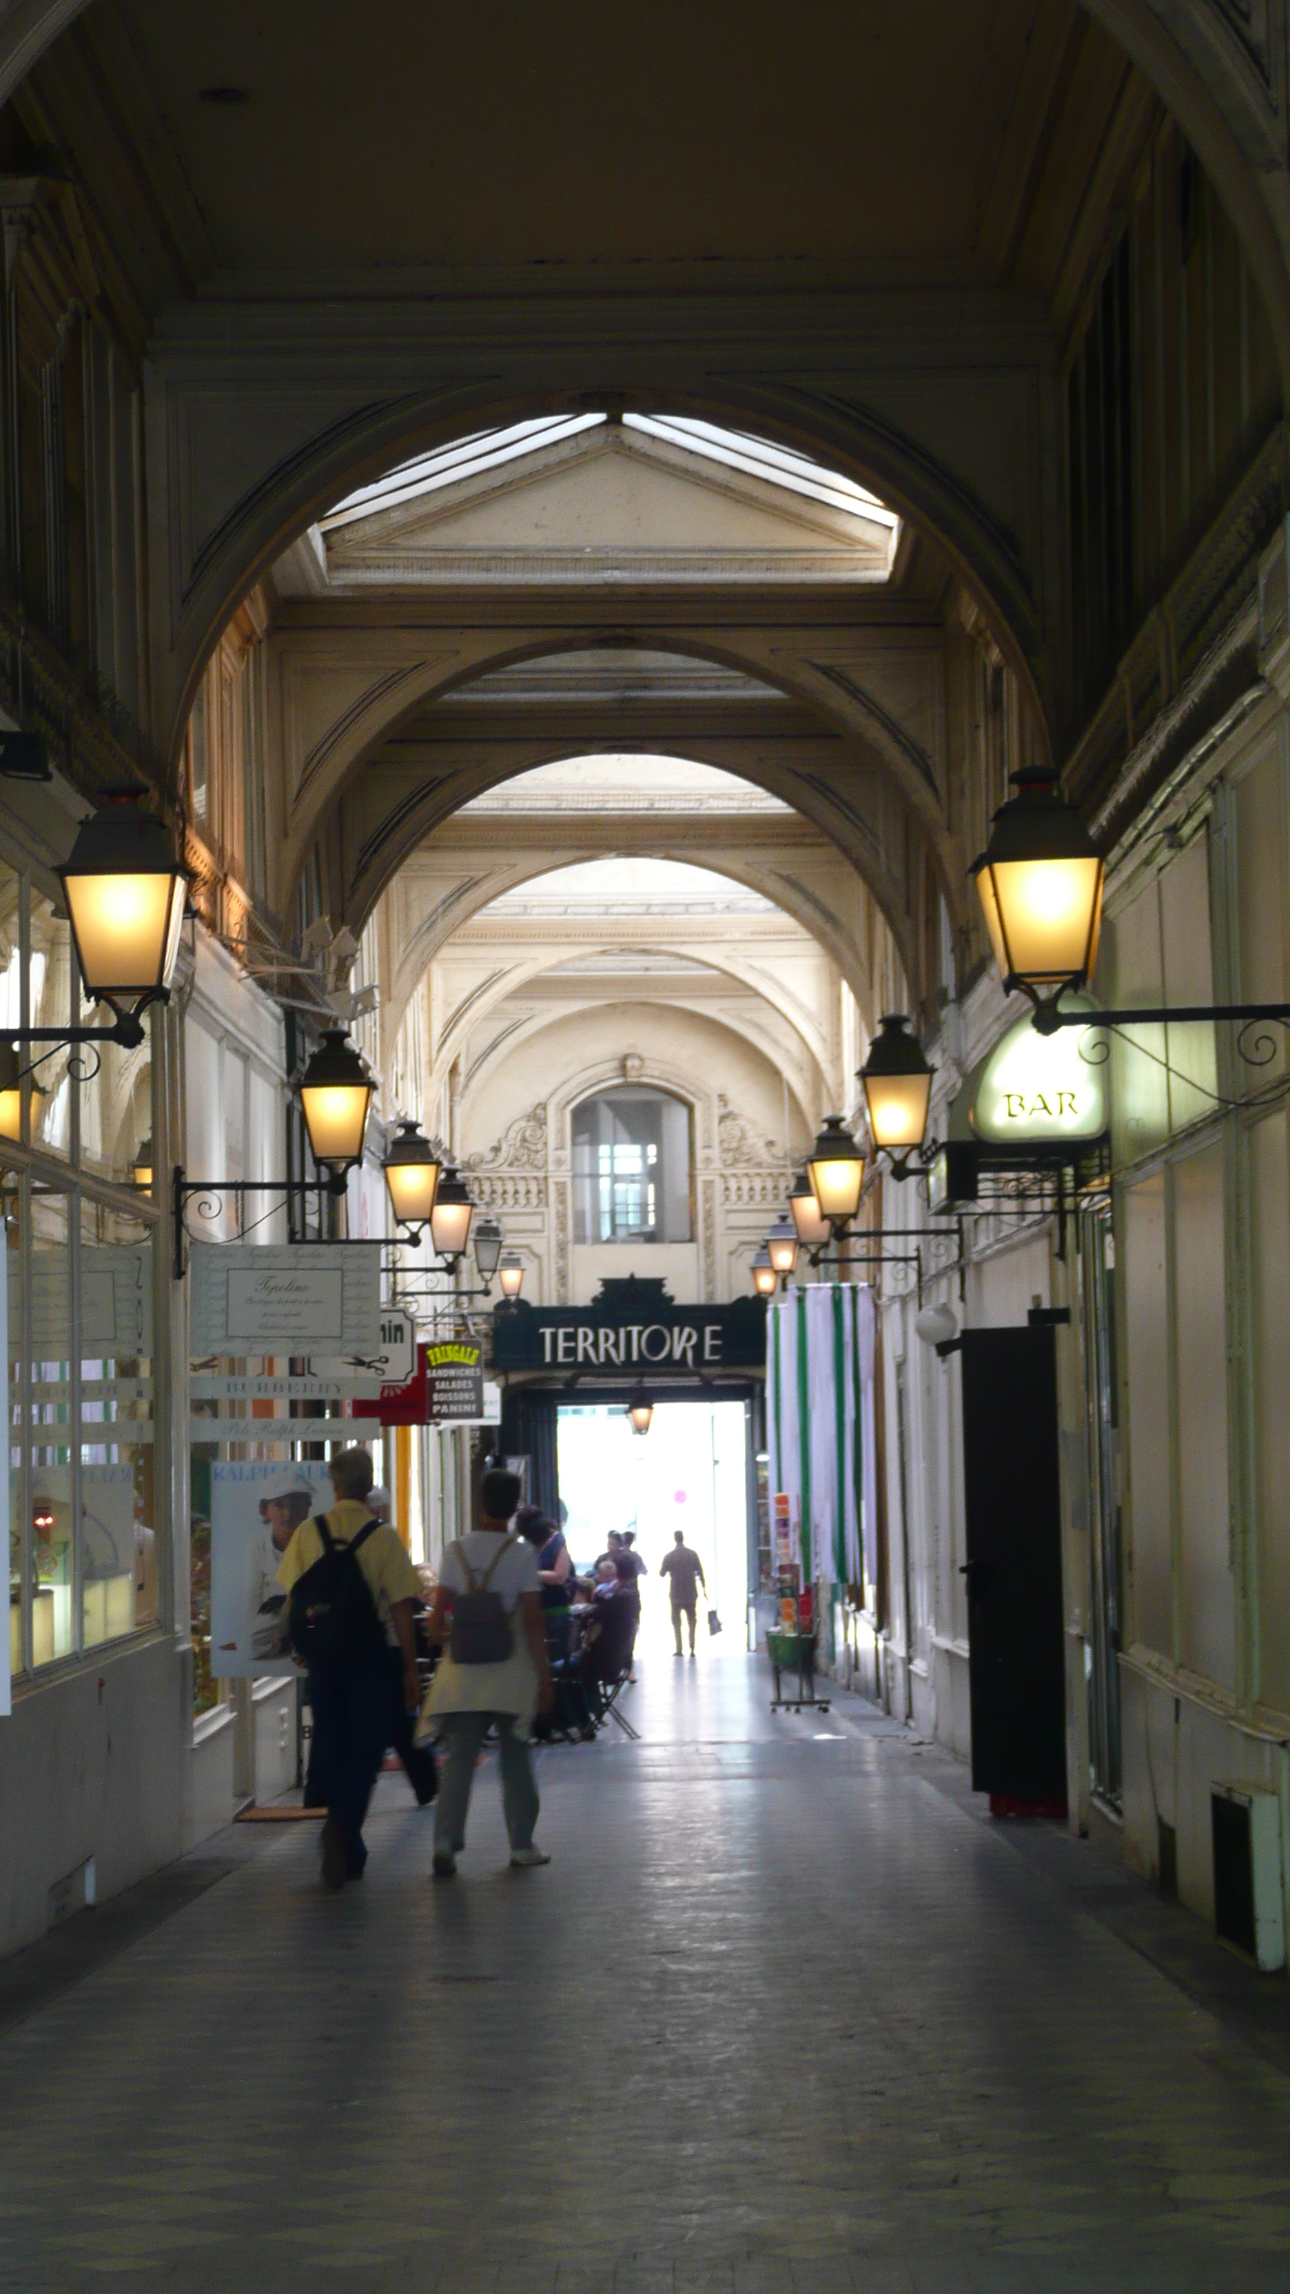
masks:
<path fill-rule="evenodd" d="M 326 1466 L 211 1466 L 211 1672 L 243 1679 L 298 1668 L 285 1647 L 278 1562 L 308 1514 L 333 1505 Z"/>

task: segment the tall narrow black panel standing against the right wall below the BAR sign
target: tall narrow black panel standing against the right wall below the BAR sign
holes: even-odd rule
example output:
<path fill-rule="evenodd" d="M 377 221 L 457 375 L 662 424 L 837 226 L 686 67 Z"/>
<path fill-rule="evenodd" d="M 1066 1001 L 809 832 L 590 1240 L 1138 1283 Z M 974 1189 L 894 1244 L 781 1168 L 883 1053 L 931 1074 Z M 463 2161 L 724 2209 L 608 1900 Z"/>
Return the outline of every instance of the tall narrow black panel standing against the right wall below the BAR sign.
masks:
<path fill-rule="evenodd" d="M 1065 1808 L 1054 1331 L 964 1331 L 971 1780 Z"/>

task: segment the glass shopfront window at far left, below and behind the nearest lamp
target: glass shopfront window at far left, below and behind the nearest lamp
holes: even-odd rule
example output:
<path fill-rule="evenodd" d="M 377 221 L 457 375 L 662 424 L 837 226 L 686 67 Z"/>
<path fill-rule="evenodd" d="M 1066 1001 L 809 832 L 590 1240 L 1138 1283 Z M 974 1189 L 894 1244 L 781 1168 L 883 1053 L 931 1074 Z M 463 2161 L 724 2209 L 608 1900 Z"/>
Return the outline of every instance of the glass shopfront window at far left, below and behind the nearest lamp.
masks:
<path fill-rule="evenodd" d="M 101 1023 L 80 1009 L 67 924 L 0 867 L 0 1035 Z M 151 1039 L 21 1048 L 0 1129 L 9 1353 L 14 1679 L 158 1620 L 154 1475 L 156 1211 L 131 1184 Z M 5 1101 L 0 1101 L 0 1108 Z"/>

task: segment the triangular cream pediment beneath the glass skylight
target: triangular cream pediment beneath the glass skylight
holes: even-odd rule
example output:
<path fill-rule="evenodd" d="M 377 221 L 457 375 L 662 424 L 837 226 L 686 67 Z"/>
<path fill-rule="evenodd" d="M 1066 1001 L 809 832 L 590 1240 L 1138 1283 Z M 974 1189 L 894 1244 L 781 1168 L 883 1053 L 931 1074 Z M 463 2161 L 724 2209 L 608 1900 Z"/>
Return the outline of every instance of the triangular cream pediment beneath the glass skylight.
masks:
<path fill-rule="evenodd" d="M 326 587 L 888 578 L 893 525 L 620 424 L 324 528 Z"/>

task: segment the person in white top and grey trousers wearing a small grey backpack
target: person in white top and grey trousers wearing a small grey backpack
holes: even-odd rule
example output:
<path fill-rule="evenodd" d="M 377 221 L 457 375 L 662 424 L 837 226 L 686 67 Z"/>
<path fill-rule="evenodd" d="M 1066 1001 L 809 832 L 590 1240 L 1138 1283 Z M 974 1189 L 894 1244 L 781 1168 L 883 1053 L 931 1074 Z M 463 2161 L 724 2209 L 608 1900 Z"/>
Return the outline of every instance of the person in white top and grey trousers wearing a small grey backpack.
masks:
<path fill-rule="evenodd" d="M 448 1546 L 429 1613 L 429 1640 L 448 1643 L 418 1737 L 445 1746 L 434 1812 L 434 1876 L 452 1879 L 466 1847 L 466 1810 L 480 1746 L 496 1723 L 503 1812 L 512 1865 L 551 1863 L 533 1844 L 537 1785 L 528 1730 L 551 1704 L 537 1555 L 510 1535 L 519 1475 L 491 1468 L 480 1482 L 480 1528 Z"/>

